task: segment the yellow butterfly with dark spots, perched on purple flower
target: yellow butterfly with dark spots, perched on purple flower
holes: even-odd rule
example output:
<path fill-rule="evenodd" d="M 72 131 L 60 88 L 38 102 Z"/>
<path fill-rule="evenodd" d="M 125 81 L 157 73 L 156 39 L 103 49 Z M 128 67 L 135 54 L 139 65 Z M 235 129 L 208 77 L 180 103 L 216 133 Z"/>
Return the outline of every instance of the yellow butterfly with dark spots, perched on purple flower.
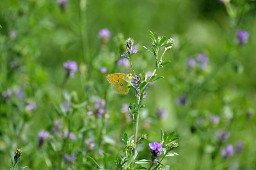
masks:
<path fill-rule="evenodd" d="M 129 80 L 132 79 L 132 74 L 124 74 L 124 73 L 113 73 L 106 75 L 106 80 L 115 87 L 116 92 L 118 94 L 128 94 L 129 90 L 127 87 L 129 86 L 129 83 L 124 80 L 124 77 L 129 78 Z"/>

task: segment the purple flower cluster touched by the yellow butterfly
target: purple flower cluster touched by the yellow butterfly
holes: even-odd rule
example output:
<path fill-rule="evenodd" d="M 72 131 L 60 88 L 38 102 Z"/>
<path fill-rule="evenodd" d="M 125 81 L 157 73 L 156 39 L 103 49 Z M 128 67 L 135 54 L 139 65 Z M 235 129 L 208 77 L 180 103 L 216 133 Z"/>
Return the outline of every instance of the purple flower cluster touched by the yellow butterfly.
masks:
<path fill-rule="evenodd" d="M 148 86 L 146 85 L 145 87 L 143 87 L 143 89 L 141 89 L 141 83 L 141 73 L 132 77 L 132 85 L 136 90 L 135 96 L 140 97 L 140 95 L 142 94 L 143 99 L 145 99 L 147 97 L 147 92 L 145 92 L 145 90 L 148 89 Z"/>

